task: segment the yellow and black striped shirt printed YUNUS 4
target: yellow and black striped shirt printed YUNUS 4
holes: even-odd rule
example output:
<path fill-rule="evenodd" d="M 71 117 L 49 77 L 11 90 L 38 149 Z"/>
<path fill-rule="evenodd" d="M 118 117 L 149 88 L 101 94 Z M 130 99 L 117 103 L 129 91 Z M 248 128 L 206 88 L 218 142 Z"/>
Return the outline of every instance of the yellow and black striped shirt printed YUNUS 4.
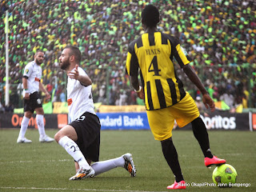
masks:
<path fill-rule="evenodd" d="M 138 76 L 145 93 L 146 110 L 173 106 L 185 97 L 182 81 L 176 75 L 174 58 L 183 67 L 190 63 L 177 38 L 162 32 L 145 33 L 130 43 L 126 71 Z"/>

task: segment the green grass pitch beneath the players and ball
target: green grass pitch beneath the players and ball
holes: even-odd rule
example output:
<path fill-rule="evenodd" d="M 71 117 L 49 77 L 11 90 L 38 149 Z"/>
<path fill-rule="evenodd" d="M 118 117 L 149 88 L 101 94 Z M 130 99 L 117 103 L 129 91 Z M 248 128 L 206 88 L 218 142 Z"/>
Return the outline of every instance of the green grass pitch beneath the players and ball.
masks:
<path fill-rule="evenodd" d="M 54 137 L 58 130 L 46 130 Z M 122 168 L 110 170 L 94 178 L 69 181 L 75 174 L 74 162 L 56 142 L 38 142 L 38 130 L 27 130 L 31 144 L 17 144 L 19 130 L 0 130 L 0 191 L 1 192 L 65 192 L 110 191 L 145 192 L 170 191 L 166 186 L 174 182 L 160 142 L 155 141 L 150 130 L 102 130 L 100 160 L 116 158 L 130 152 L 134 157 L 137 176 Z M 256 132 L 208 132 L 211 150 L 219 158 L 234 166 L 238 183 L 249 187 L 220 188 L 213 184 L 198 142 L 191 130 L 174 130 L 173 139 L 178 151 L 184 178 L 190 186 L 186 191 L 256 191 Z"/>

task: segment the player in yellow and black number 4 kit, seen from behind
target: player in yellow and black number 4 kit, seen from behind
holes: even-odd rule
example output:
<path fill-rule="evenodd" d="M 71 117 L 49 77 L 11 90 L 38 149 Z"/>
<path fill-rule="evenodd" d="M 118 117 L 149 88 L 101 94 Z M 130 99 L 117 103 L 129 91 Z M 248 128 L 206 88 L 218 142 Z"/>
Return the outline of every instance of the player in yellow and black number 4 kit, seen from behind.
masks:
<path fill-rule="evenodd" d="M 211 153 L 206 126 L 199 117 L 194 99 L 184 90 L 182 81 L 175 72 L 174 59 L 201 91 L 206 108 L 214 111 L 214 102 L 190 66 L 192 59 L 182 49 L 178 38 L 157 30 L 159 21 L 158 8 L 153 5 L 145 6 L 142 10 L 142 26 L 145 33 L 130 43 L 126 71 L 138 97 L 145 99 L 150 129 L 154 138 L 161 141 L 166 162 L 175 175 L 174 184 L 167 188 L 185 189 L 186 182 L 171 138 L 175 120 L 180 127 L 191 122 L 194 136 L 198 139 L 205 156 L 206 166 L 218 166 L 226 160 L 216 158 Z M 139 86 L 138 71 L 142 86 Z"/>

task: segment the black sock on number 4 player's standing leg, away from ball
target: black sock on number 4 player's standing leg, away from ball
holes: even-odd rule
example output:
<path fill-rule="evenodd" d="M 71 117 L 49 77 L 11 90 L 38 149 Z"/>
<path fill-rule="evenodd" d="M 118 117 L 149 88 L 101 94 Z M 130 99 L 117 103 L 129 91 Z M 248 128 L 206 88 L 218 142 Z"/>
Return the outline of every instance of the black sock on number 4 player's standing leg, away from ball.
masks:
<path fill-rule="evenodd" d="M 172 138 L 167 138 L 166 140 L 161 141 L 161 145 L 162 153 L 165 156 L 166 162 L 170 166 L 170 169 L 173 171 L 175 175 L 176 182 L 181 182 L 182 180 L 184 180 L 184 178 L 182 176 L 182 170 L 178 162 L 178 154 L 175 149 Z"/>

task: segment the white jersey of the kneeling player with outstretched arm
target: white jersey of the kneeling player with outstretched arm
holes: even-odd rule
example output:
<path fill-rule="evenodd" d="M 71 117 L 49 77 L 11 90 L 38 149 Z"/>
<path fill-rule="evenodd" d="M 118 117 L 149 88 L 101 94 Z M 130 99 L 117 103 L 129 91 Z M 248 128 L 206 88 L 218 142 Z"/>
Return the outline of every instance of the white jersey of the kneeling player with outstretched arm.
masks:
<path fill-rule="evenodd" d="M 78 72 L 79 74 L 86 75 L 86 72 L 81 67 L 78 67 Z M 91 86 L 83 86 L 78 80 L 68 78 L 66 90 L 71 122 L 80 118 L 85 112 L 95 114 Z"/>

